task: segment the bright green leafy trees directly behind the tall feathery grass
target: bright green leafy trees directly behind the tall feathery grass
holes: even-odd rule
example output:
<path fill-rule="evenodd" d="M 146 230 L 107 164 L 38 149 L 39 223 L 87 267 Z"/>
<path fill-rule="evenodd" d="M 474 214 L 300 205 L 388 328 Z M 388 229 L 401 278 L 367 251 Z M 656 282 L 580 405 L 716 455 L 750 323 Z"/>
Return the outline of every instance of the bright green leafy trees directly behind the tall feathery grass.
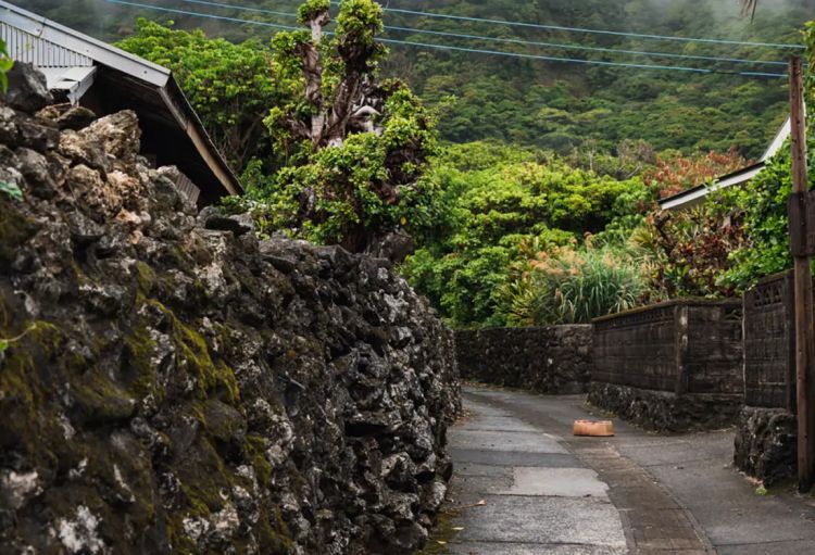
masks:
<path fill-rule="evenodd" d="M 617 180 L 551 153 L 484 142 L 448 148 L 432 177 L 443 190 L 444 219 L 403 272 L 461 326 L 506 323 L 503 291 L 529 245 L 549 252 L 610 224 L 634 225 L 653 201 L 641 179 Z"/>

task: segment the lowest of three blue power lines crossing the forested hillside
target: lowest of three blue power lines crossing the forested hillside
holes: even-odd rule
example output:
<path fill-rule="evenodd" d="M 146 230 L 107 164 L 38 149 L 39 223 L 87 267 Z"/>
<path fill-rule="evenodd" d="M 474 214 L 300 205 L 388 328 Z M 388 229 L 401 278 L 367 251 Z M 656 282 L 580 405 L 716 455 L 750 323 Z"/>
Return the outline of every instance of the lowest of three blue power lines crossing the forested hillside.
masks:
<path fill-rule="evenodd" d="M 173 8 L 163 8 L 163 7 L 151 5 L 151 4 L 142 4 L 139 2 L 130 2 L 127 0 L 104 0 L 104 1 L 109 3 L 114 3 L 114 4 L 130 5 L 135 8 L 143 8 L 143 9 L 156 10 L 161 12 L 178 13 L 183 15 L 192 15 L 197 17 L 223 20 L 223 21 L 229 21 L 234 23 L 247 23 L 250 25 L 261 25 L 265 27 L 283 28 L 283 29 L 289 29 L 289 30 L 300 30 L 300 27 L 293 27 L 290 25 L 279 25 L 276 23 L 258 22 L 258 21 L 252 21 L 252 20 L 241 20 L 239 17 L 227 17 L 225 15 L 215 15 L 211 13 L 190 12 L 187 10 L 177 10 Z M 331 35 L 331 33 L 326 33 L 326 34 Z M 730 74 L 730 75 L 741 75 L 741 76 L 747 76 L 747 77 L 786 77 L 787 76 L 786 74 L 782 74 L 782 73 L 776 74 L 776 73 L 762 73 L 762 72 L 723 72 L 723 71 L 709 70 L 704 67 L 688 67 L 688 66 L 681 66 L 681 65 L 631 64 L 631 63 L 623 63 L 623 62 L 605 62 L 605 61 L 600 61 L 600 60 L 585 60 L 585 59 L 579 59 L 579 58 L 557 58 L 557 56 L 549 56 L 549 55 L 540 55 L 540 54 L 525 54 L 521 52 L 502 52 L 499 50 L 484 50 L 484 49 L 454 47 L 451 45 L 431 45 L 427 42 L 414 42 L 410 40 L 396 40 L 396 39 L 386 39 L 386 38 L 378 38 L 377 40 L 381 42 L 392 43 L 392 45 L 404 45 L 404 46 L 430 48 L 430 49 L 437 49 L 437 50 L 453 50 L 453 51 L 460 51 L 460 52 L 502 55 L 502 56 L 510 56 L 510 58 L 543 60 L 543 61 L 549 61 L 549 62 L 566 62 L 566 63 L 579 63 L 579 64 L 588 64 L 588 65 L 632 67 L 632 68 L 640 68 L 640 70 L 679 71 L 679 72 L 690 72 L 690 73 L 701 73 L 701 74 L 723 73 L 723 74 Z"/>

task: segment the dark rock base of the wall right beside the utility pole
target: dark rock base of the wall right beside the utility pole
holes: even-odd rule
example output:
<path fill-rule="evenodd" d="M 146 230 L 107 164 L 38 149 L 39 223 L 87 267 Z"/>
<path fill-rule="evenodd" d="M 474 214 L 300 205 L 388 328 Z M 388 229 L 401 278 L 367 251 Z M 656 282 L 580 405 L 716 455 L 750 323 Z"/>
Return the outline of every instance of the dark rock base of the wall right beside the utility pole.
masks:
<path fill-rule="evenodd" d="M 765 485 L 795 476 L 798 425 L 786 408 L 745 406 L 739 413 L 734 439 L 736 467 Z"/>

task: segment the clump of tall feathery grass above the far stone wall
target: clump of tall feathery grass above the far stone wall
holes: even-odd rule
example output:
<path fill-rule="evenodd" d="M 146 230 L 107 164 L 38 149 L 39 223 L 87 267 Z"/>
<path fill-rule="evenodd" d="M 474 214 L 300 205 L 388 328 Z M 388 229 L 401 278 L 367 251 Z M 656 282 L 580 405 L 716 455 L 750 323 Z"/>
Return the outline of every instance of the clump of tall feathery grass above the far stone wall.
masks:
<path fill-rule="evenodd" d="M 504 291 L 511 325 L 588 324 L 642 304 L 649 294 L 641 262 L 612 248 L 539 253 Z"/>

